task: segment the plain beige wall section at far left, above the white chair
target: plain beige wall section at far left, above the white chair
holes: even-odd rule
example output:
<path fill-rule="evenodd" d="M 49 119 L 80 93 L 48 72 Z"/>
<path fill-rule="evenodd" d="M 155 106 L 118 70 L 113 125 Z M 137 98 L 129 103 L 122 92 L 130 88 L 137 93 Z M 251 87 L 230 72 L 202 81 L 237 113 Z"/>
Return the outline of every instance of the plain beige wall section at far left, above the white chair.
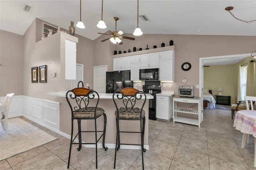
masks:
<path fill-rule="evenodd" d="M 0 30 L 0 96 L 23 95 L 23 41 L 23 36 Z"/>

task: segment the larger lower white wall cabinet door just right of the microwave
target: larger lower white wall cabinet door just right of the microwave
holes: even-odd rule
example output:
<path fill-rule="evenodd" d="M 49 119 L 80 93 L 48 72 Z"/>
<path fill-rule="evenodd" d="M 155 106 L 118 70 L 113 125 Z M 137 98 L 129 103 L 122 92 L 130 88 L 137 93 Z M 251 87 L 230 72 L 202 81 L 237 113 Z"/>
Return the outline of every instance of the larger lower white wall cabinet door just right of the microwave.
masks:
<path fill-rule="evenodd" d="M 160 81 L 174 81 L 174 67 L 173 60 L 160 60 L 159 61 L 159 80 Z"/>

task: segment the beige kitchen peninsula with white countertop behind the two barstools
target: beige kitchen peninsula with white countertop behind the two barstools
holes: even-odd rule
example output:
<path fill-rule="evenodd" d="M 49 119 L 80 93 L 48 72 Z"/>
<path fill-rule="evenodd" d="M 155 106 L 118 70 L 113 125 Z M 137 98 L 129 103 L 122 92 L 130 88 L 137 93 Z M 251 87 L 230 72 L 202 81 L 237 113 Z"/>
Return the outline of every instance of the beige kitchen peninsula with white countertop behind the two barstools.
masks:
<path fill-rule="evenodd" d="M 66 97 L 66 91 L 60 91 L 60 92 L 53 92 L 53 93 L 47 93 L 47 95 L 52 95 L 56 97 Z M 116 117 L 114 115 L 114 112 L 116 110 L 116 107 L 114 105 L 112 93 L 99 93 L 99 103 L 98 107 L 101 107 L 105 110 L 106 116 L 107 116 L 107 125 L 106 125 L 106 138 L 105 138 L 105 146 L 108 148 L 115 148 L 116 143 Z M 148 99 L 153 99 L 153 96 L 150 94 L 146 94 L 146 103 L 144 105 L 144 111 L 146 112 L 146 125 L 145 125 L 145 134 L 144 134 L 144 148 L 149 149 L 148 147 Z M 66 100 L 66 99 L 65 99 Z M 68 106 L 68 103 L 65 100 L 61 100 L 62 103 L 60 103 L 60 117 L 62 116 L 69 116 L 68 119 L 65 122 L 60 122 L 60 124 L 68 126 L 69 131 L 65 132 L 68 135 L 71 133 L 71 111 Z M 96 100 L 95 100 L 96 101 Z M 92 100 L 94 102 L 94 100 Z M 121 101 L 120 101 L 121 102 Z M 136 106 L 140 107 L 142 105 L 142 101 L 137 101 Z M 69 110 L 68 110 L 69 109 Z M 62 111 L 64 114 L 62 114 Z M 68 113 L 68 114 L 66 114 Z M 60 119 L 62 120 L 62 119 Z M 100 117 L 97 119 L 97 128 L 103 129 L 103 117 Z M 87 122 L 87 123 L 86 123 Z M 76 134 L 77 131 L 77 123 L 74 121 L 74 134 Z M 129 121 L 129 124 L 127 124 L 125 121 L 120 122 L 120 129 L 129 128 L 130 131 L 138 131 L 140 129 L 140 124 L 138 121 Z M 88 121 L 83 120 L 81 123 L 82 130 L 92 130 L 94 128 L 94 121 Z M 68 128 L 67 128 L 68 129 Z M 140 143 L 140 134 L 120 134 L 122 135 L 122 140 L 124 140 L 126 143 Z M 84 142 L 91 142 L 94 139 L 94 134 L 82 134 L 82 141 Z M 99 141 L 102 143 L 102 140 Z M 93 146 L 87 146 L 87 147 L 94 147 Z M 121 146 L 121 148 L 130 148 L 130 149 L 140 149 L 140 146 L 134 146 L 134 145 L 126 145 Z"/>

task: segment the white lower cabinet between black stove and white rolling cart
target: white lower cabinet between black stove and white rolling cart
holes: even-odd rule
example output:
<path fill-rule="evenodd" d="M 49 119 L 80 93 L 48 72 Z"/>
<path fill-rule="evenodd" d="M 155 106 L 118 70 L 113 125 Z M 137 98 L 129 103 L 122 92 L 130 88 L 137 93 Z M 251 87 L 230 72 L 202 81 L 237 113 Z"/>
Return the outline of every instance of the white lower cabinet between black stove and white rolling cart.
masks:
<path fill-rule="evenodd" d="M 172 118 L 171 96 L 156 96 L 156 118 L 170 121 Z"/>

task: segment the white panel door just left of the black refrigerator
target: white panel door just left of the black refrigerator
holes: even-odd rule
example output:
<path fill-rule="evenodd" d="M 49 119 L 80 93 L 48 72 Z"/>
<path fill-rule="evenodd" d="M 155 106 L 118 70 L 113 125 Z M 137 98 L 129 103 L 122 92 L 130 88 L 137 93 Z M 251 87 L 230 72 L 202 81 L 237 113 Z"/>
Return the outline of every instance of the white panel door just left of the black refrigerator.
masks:
<path fill-rule="evenodd" d="M 93 67 L 93 90 L 106 93 L 106 65 Z"/>

